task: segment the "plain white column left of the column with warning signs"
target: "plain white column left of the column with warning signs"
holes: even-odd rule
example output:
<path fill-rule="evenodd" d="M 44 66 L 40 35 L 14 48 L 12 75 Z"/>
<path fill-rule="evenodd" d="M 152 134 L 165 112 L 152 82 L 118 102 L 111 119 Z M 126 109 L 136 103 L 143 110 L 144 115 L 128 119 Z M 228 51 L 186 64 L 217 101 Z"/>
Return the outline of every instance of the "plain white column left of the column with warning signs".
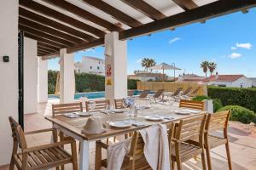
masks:
<path fill-rule="evenodd" d="M 67 49 L 63 48 L 60 58 L 60 103 L 71 103 L 75 93 L 73 54 L 67 54 Z"/>

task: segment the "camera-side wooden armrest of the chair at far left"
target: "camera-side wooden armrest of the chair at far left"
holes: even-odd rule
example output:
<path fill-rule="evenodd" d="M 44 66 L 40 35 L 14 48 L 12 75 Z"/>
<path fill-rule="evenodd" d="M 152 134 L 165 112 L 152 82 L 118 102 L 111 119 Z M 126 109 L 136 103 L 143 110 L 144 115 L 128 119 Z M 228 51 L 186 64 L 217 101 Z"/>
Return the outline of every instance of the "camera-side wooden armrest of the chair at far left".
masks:
<path fill-rule="evenodd" d="M 53 144 L 43 144 L 43 145 L 39 145 L 39 146 L 33 146 L 30 148 L 26 148 L 22 151 L 23 152 L 31 152 L 31 151 L 37 151 L 37 150 L 45 150 L 45 149 L 53 148 L 56 146 L 62 146 L 64 144 L 72 144 L 73 142 L 76 142 L 76 141 L 74 139 L 67 139 L 67 140 L 63 140 L 61 142 L 56 142 Z"/>

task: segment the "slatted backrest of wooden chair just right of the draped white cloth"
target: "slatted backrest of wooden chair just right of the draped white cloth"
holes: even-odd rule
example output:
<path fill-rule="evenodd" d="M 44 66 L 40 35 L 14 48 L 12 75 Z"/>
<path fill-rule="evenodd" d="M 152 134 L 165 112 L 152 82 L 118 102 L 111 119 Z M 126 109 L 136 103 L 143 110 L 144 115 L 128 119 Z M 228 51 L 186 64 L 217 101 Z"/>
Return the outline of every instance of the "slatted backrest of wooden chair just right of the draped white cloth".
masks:
<path fill-rule="evenodd" d="M 206 122 L 206 115 L 201 114 L 187 119 L 181 120 L 177 124 L 177 132 L 175 139 L 179 141 L 186 141 L 189 139 L 199 139 L 199 143 L 203 144 L 204 128 Z"/>

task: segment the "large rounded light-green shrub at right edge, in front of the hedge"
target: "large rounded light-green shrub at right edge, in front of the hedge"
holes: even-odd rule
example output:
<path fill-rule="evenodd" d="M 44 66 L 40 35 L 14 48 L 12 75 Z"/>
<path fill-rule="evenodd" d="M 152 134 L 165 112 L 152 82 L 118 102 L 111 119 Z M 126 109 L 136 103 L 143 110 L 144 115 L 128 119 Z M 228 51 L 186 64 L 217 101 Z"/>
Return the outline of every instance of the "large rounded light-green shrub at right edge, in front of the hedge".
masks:
<path fill-rule="evenodd" d="M 242 123 L 256 122 L 256 114 L 239 105 L 226 105 L 218 110 L 218 112 L 219 111 L 231 111 L 231 121 L 239 121 Z"/>

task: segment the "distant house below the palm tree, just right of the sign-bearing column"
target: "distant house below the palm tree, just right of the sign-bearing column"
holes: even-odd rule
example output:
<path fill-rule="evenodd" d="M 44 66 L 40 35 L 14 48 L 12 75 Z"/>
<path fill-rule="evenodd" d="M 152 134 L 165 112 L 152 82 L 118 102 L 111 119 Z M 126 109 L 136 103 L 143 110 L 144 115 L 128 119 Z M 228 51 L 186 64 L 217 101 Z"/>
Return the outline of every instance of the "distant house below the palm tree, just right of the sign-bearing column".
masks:
<path fill-rule="evenodd" d="M 166 79 L 166 74 L 163 75 L 160 73 L 153 73 L 148 71 L 134 71 L 134 75 L 128 75 L 128 79 L 136 79 L 142 82 L 161 81 L 163 77 Z"/>

